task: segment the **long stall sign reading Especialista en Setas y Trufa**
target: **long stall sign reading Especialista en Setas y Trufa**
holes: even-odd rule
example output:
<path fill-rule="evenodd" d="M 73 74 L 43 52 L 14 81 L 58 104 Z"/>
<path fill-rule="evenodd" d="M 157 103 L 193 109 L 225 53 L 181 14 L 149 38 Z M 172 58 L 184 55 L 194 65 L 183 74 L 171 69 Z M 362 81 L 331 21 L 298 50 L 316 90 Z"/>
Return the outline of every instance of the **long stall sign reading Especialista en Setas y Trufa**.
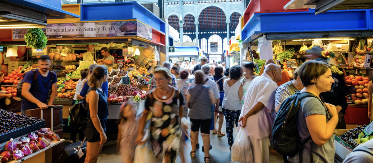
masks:
<path fill-rule="evenodd" d="M 13 39 L 23 39 L 28 29 L 13 29 Z M 48 24 L 47 38 L 139 36 L 151 40 L 151 27 L 139 21 Z"/>

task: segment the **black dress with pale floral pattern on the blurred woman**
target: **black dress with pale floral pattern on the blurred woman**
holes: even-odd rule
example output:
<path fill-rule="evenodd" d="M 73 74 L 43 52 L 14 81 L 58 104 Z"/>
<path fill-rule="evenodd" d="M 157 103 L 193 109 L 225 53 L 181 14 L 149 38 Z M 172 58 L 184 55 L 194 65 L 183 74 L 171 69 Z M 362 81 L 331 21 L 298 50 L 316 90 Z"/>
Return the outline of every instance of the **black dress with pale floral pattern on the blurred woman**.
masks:
<path fill-rule="evenodd" d="M 184 98 L 181 91 L 173 88 L 169 99 L 159 99 L 154 91 L 149 92 L 145 101 L 145 109 L 151 112 L 150 142 L 156 160 L 154 163 L 175 163 L 180 147 L 179 107 Z"/>

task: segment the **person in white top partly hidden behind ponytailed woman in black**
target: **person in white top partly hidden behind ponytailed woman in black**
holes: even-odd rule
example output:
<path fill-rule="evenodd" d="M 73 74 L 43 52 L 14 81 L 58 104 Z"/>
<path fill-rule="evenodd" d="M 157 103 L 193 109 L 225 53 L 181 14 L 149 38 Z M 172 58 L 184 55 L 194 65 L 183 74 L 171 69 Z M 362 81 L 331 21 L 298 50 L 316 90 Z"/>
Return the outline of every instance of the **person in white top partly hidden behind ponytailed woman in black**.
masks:
<path fill-rule="evenodd" d="M 78 83 L 76 84 L 76 90 L 75 90 L 74 98 L 72 100 L 72 104 L 71 105 L 74 105 L 75 102 L 76 102 L 76 100 L 83 99 L 83 98 L 81 98 L 81 96 L 79 94 L 80 94 L 80 91 L 82 91 L 84 83 L 87 81 L 88 77 L 90 77 L 89 74 L 90 74 L 90 70 L 88 70 L 88 68 L 85 68 L 85 69 L 83 69 L 83 70 L 80 71 L 80 76 L 82 78 L 79 79 Z M 69 117 L 69 120 L 70 120 L 70 117 Z M 82 130 L 71 129 L 71 132 L 70 132 L 70 143 L 75 143 L 76 142 L 76 132 L 78 132 L 78 131 L 79 131 L 79 140 L 83 140 L 84 133 L 82 132 Z"/>

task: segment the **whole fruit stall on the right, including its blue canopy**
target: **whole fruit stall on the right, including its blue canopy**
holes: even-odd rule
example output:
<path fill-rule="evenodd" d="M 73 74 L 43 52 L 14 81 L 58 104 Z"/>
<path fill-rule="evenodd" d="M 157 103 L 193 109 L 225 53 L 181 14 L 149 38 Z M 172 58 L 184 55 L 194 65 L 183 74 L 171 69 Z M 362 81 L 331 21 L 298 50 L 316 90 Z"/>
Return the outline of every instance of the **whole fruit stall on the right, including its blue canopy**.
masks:
<path fill-rule="evenodd" d="M 370 122 L 367 114 L 368 83 L 373 79 L 372 10 L 334 10 L 314 15 L 313 9 L 295 11 L 260 5 L 264 1 L 250 1 L 245 11 L 240 36 L 247 53 L 241 60 L 253 59 L 260 74 L 266 61 L 262 57 L 273 53 L 270 58 L 292 76 L 292 72 L 308 59 L 306 50 L 322 47 L 322 55 L 332 66 L 332 73 L 340 77 L 345 87 L 345 98 L 340 100 L 348 103 L 344 116 L 348 130 L 336 130 L 335 134 L 336 159 L 344 159 L 358 145 L 350 139 L 357 140 L 361 130 Z M 270 12 L 268 7 L 272 7 Z M 330 23 L 325 23 L 325 19 Z M 263 40 L 272 42 L 266 45 Z M 258 45 L 261 46 L 258 48 Z M 339 137 L 344 132 L 351 138 Z M 360 136 L 366 138 L 370 134 Z"/>

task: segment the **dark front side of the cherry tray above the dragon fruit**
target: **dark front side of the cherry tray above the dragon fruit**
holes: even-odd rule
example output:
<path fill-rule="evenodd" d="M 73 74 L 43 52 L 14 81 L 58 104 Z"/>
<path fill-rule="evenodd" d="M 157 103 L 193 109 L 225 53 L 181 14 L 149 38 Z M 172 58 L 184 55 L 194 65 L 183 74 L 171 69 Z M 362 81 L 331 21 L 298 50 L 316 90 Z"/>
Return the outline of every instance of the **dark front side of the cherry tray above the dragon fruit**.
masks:
<path fill-rule="evenodd" d="M 29 125 L 23 128 L 18 128 L 16 130 L 6 132 L 0 135 L 0 143 L 9 141 L 10 138 L 17 138 L 22 135 L 33 132 L 35 130 L 40 130 L 40 128 L 43 128 L 43 127 L 45 127 L 45 121 L 37 122 L 36 124 L 32 124 L 32 125 Z"/>

